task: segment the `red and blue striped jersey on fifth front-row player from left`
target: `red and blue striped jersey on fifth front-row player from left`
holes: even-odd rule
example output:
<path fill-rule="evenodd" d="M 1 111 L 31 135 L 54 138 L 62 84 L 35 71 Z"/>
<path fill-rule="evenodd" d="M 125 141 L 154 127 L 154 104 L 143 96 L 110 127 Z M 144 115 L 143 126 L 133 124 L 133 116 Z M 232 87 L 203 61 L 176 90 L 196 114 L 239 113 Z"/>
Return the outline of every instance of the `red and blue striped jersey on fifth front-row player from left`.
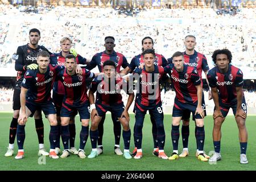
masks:
<path fill-rule="evenodd" d="M 174 64 L 169 64 L 164 67 L 164 72 L 171 76 L 177 100 L 183 103 L 197 101 L 196 86 L 201 84 L 201 78 L 196 68 L 184 64 L 183 72 L 177 72 Z"/>

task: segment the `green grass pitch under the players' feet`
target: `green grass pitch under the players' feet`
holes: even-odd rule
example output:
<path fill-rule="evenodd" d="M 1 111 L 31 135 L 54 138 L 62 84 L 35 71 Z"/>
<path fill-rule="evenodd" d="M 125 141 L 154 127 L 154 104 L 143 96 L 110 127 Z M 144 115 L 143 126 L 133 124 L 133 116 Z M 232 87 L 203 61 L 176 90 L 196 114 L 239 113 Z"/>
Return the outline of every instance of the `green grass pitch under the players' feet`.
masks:
<path fill-rule="evenodd" d="M 222 160 L 217 164 L 209 164 L 208 162 L 201 162 L 196 159 L 196 140 L 195 140 L 195 123 L 191 122 L 190 136 L 189 136 L 189 156 L 187 158 L 180 158 L 175 161 L 159 159 L 152 155 L 153 141 L 151 134 L 151 122 L 149 115 L 146 115 L 143 127 L 143 158 L 139 160 L 127 160 L 123 156 L 114 154 L 114 134 L 113 123 L 111 116 L 107 114 L 104 123 L 104 153 L 94 159 L 80 159 L 76 155 L 71 155 L 67 159 L 53 160 L 49 157 L 45 159 L 39 158 L 38 153 L 38 138 L 35 131 L 34 119 L 30 118 L 26 125 L 26 139 L 24 143 L 25 158 L 21 160 L 14 159 L 18 146 L 15 140 L 14 156 L 6 158 L 4 156 L 9 143 L 9 126 L 11 121 L 11 113 L 0 113 L 0 170 L 75 170 L 75 171 L 176 171 L 176 170 L 238 170 L 247 171 L 256 169 L 256 117 L 248 116 L 246 120 L 246 127 L 249 134 L 247 146 L 247 159 L 249 164 L 240 164 L 240 144 L 238 139 L 238 128 L 233 116 L 227 117 L 222 126 L 222 140 L 221 140 L 221 155 Z M 135 122 L 134 115 L 130 115 L 131 127 L 131 145 L 130 151 L 133 151 L 133 126 Z M 172 153 L 171 144 L 171 115 L 164 115 L 164 128 L 166 130 L 166 145 L 164 151 L 168 156 Z M 205 147 L 204 150 L 209 154 L 213 151 L 212 142 L 212 116 L 205 118 Z M 76 118 L 76 148 L 79 148 L 79 133 L 81 124 L 79 117 Z M 180 127 L 181 130 L 181 127 Z M 49 123 L 44 119 L 44 143 L 47 151 L 49 150 Z M 121 137 L 121 148 L 123 150 L 123 139 Z M 182 150 L 181 137 L 179 140 L 179 153 Z M 89 155 L 91 151 L 91 144 L 88 141 L 85 146 L 85 153 Z"/>

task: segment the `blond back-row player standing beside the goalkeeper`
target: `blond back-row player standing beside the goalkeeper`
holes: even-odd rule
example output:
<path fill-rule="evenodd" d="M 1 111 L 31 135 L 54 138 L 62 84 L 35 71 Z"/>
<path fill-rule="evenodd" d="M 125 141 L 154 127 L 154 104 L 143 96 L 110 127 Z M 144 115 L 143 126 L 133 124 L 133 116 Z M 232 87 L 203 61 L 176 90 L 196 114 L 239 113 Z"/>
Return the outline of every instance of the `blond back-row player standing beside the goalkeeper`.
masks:
<path fill-rule="evenodd" d="M 86 60 L 84 57 L 77 54 L 75 49 L 71 48 L 71 46 L 72 46 L 71 39 L 64 37 L 60 40 L 61 51 L 59 53 L 53 54 L 54 56 L 56 56 L 58 65 L 65 65 L 65 56 L 67 56 L 70 53 L 75 55 L 77 64 L 86 64 L 86 62 L 89 63 L 88 60 Z M 52 99 L 56 108 L 57 121 L 58 121 L 58 133 L 59 133 L 59 137 L 56 142 L 56 146 L 57 146 L 56 154 L 59 154 L 60 152 L 60 122 L 61 122 L 60 110 L 63 103 L 64 94 L 65 94 L 65 89 L 63 86 L 63 82 L 61 82 L 60 80 L 56 80 L 53 85 L 53 93 L 52 93 Z M 74 114 L 76 115 L 76 112 Z M 74 116 L 71 117 L 68 124 L 68 128 L 69 128 L 69 134 L 70 134 L 70 138 L 69 138 L 70 152 L 76 155 L 79 153 L 79 151 L 77 151 L 75 147 L 76 126 L 75 126 Z"/>

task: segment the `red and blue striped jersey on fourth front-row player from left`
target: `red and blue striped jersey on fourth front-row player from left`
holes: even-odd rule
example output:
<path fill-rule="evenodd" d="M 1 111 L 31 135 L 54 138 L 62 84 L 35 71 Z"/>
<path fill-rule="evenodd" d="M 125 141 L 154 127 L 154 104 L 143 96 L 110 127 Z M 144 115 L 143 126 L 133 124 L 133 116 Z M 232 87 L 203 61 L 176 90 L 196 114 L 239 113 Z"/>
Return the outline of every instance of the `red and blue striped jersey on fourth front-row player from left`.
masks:
<path fill-rule="evenodd" d="M 153 72 L 147 72 L 145 66 L 143 69 L 136 68 L 133 72 L 137 80 L 137 94 L 135 102 L 144 106 L 157 105 L 161 101 L 159 80 L 164 75 L 164 68 L 154 65 Z"/>

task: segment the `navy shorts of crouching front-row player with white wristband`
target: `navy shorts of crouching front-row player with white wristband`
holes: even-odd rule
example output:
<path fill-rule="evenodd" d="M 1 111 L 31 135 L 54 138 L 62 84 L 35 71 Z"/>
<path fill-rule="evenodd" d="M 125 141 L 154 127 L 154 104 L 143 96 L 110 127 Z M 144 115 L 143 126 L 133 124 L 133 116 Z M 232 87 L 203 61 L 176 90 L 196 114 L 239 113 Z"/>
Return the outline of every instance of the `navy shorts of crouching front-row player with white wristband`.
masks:
<path fill-rule="evenodd" d="M 123 105 L 123 102 L 113 105 L 104 105 L 101 104 L 100 101 L 96 101 L 95 106 L 100 117 L 105 115 L 107 111 L 110 111 L 112 114 L 114 114 L 114 116 L 120 118 L 123 111 L 125 110 L 125 105 Z"/>

